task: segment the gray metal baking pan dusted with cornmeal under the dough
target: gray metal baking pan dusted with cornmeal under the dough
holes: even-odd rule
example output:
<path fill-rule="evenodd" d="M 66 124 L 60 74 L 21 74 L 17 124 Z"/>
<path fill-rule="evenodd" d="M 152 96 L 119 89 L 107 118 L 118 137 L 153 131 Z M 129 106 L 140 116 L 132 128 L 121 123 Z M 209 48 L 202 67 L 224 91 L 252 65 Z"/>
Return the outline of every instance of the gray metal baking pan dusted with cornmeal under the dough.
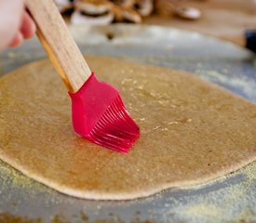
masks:
<path fill-rule="evenodd" d="M 71 27 L 84 54 L 194 72 L 256 102 L 254 55 L 199 33 L 139 25 Z M 36 39 L 0 56 L 0 74 L 45 58 Z M 0 98 L 1 99 L 1 98 Z M 256 136 L 255 136 L 256 137 Z M 0 222 L 256 222 L 256 163 L 191 188 L 133 201 L 77 199 L 0 162 Z"/>

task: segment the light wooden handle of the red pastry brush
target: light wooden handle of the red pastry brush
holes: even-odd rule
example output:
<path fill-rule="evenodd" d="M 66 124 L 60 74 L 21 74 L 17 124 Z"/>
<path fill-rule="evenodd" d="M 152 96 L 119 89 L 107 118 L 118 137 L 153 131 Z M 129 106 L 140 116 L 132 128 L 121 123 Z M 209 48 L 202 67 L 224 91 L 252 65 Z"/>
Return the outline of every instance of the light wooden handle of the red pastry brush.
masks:
<path fill-rule="evenodd" d="M 37 36 L 67 88 L 75 92 L 91 72 L 53 0 L 25 0 Z"/>

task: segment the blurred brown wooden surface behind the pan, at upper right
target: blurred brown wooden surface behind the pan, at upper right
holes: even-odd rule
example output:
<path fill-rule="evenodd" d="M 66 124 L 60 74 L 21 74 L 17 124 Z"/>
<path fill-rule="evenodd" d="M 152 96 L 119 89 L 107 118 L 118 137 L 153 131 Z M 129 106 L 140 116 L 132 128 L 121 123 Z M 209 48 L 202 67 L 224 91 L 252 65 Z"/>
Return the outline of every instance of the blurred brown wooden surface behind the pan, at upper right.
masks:
<path fill-rule="evenodd" d="M 244 31 L 256 29 L 256 2 L 253 0 L 181 1 L 180 6 L 196 7 L 202 12 L 200 20 L 182 20 L 175 16 L 146 18 L 144 23 L 171 26 L 213 35 L 244 45 Z"/>

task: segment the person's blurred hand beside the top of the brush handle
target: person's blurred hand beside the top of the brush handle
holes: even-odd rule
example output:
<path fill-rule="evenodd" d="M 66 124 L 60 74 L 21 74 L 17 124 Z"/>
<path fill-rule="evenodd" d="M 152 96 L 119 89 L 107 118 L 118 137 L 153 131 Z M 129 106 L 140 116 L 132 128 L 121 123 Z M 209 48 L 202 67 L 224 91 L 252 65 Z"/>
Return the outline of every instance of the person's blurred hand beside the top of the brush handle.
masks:
<path fill-rule="evenodd" d="M 0 49 L 20 46 L 34 33 L 34 20 L 26 12 L 23 0 L 0 0 Z"/>

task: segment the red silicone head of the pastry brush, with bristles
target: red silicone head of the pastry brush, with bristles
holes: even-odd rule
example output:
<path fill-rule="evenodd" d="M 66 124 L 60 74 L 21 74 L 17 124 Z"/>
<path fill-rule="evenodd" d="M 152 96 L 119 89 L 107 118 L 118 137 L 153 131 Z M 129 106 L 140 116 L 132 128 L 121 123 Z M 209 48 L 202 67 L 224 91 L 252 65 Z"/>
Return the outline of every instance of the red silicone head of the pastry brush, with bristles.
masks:
<path fill-rule="evenodd" d="M 99 82 L 94 73 L 81 89 L 70 94 L 74 131 L 103 147 L 128 152 L 140 138 L 115 87 Z"/>

